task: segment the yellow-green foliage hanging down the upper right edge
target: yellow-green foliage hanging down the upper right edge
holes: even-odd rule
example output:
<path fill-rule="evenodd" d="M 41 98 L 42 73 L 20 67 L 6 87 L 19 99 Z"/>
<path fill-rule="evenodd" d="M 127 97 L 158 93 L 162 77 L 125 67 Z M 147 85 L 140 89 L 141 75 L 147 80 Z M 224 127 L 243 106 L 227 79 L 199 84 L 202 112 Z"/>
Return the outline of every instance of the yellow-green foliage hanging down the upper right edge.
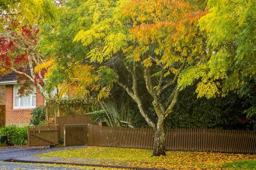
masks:
<path fill-rule="evenodd" d="M 255 78 L 256 2 L 254 0 L 209 0 L 209 13 L 199 20 L 208 33 L 208 81 L 226 79 L 222 91 L 236 90 Z M 210 86 L 209 86 L 210 87 Z"/>

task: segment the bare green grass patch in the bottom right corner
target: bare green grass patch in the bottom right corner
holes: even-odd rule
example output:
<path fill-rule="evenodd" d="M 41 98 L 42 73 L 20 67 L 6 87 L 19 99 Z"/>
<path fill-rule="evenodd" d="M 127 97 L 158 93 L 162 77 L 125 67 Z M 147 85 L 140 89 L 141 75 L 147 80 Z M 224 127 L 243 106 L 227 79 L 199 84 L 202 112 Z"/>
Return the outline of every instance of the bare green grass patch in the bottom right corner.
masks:
<path fill-rule="evenodd" d="M 223 168 L 237 168 L 237 169 L 247 169 L 247 170 L 255 170 L 256 169 L 256 161 L 236 161 L 224 164 Z"/>

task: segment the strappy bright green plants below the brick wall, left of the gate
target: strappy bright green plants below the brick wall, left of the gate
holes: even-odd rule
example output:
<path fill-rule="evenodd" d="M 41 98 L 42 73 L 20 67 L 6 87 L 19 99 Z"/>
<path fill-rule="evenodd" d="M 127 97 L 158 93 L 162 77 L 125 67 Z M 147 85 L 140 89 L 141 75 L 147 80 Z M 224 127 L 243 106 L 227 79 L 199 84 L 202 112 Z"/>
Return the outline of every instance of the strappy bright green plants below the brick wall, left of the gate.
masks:
<path fill-rule="evenodd" d="M 6 135 L 14 144 L 25 145 L 28 143 L 28 127 L 16 125 L 3 126 L 0 128 L 0 136 Z"/>

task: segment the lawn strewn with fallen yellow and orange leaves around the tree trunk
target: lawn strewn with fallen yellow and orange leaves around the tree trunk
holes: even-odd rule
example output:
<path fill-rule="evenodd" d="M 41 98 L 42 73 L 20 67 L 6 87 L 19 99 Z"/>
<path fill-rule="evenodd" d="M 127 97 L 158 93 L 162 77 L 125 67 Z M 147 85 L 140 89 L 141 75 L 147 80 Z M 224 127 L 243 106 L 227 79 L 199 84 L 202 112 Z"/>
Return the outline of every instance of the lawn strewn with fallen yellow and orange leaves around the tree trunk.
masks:
<path fill-rule="evenodd" d="M 83 147 L 37 156 L 79 158 L 87 164 L 110 164 L 160 169 L 256 169 L 256 155 L 167 151 L 167 156 L 151 157 L 152 150 L 119 147 Z"/>

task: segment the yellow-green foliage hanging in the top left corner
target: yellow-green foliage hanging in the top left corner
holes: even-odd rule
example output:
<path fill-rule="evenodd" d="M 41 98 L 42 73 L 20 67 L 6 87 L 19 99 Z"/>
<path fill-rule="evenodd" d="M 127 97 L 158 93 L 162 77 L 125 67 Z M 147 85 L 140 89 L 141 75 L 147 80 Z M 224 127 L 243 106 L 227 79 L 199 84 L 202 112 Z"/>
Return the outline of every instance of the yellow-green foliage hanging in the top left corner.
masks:
<path fill-rule="evenodd" d="M 52 0 L 0 0 L 0 30 L 10 21 L 16 26 L 42 24 L 55 20 L 56 6 Z"/>

